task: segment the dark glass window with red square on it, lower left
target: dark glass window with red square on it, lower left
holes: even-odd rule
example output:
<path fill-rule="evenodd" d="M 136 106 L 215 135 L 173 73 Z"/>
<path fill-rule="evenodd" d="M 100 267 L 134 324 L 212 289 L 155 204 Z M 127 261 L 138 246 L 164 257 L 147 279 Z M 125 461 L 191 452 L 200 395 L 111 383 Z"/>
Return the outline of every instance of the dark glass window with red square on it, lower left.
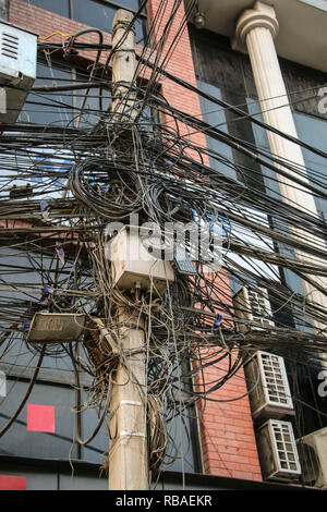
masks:
<path fill-rule="evenodd" d="M 15 413 L 27 386 L 27 381 L 7 378 L 7 397 L 0 397 L 0 428 L 7 425 Z M 28 429 L 27 407 L 29 404 L 53 407 L 53 432 Z M 72 458 L 101 464 L 102 455 L 109 448 L 108 431 L 102 426 L 88 444 L 81 447 L 74 435 L 75 414 L 73 409 L 75 407 L 74 389 L 66 386 L 36 382 L 21 414 L 2 438 L 0 454 L 65 460 Z M 46 412 L 44 414 L 46 420 Z M 39 419 L 43 420 L 43 417 Z M 80 431 L 83 440 L 93 434 L 98 420 L 97 413 L 93 409 L 82 413 Z"/>

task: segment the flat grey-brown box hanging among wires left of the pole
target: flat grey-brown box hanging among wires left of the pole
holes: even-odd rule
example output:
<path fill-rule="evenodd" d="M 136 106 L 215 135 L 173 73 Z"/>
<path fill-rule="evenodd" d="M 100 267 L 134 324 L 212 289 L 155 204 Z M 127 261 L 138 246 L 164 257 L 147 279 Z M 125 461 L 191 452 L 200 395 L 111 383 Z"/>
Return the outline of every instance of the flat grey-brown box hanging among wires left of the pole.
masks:
<path fill-rule="evenodd" d="M 64 343 L 77 341 L 85 326 L 82 313 L 36 313 L 26 341 L 29 343 Z"/>

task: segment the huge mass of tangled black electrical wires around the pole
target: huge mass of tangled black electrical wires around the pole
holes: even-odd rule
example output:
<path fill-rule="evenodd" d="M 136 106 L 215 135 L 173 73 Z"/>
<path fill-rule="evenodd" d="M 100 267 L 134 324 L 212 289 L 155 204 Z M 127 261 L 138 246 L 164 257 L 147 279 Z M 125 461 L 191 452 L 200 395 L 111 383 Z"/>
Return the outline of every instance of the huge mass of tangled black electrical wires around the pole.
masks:
<path fill-rule="evenodd" d="M 325 258 L 326 223 L 295 205 L 263 197 L 254 187 L 215 171 L 208 163 L 209 157 L 241 175 L 246 169 L 197 146 L 191 132 L 223 141 L 256 161 L 262 158 L 277 173 L 288 173 L 291 162 L 282 171 L 276 158 L 264 154 L 258 157 L 244 141 L 235 141 L 218 127 L 177 110 L 157 88 L 159 76 L 193 87 L 165 71 L 189 15 L 186 12 L 167 47 L 179 7 L 177 0 L 165 21 L 162 36 L 149 50 L 149 38 L 164 23 L 165 2 L 161 2 L 138 56 L 131 85 L 137 114 L 128 129 L 118 129 L 117 112 L 102 109 L 104 90 L 111 87 L 109 64 L 117 50 L 110 49 L 101 63 L 101 52 L 108 50 L 101 36 L 98 45 L 78 45 L 81 34 L 77 34 L 63 45 L 64 54 L 69 57 L 74 49 L 97 51 L 89 75 L 83 83 L 37 85 L 32 92 L 34 99 L 27 101 L 33 112 L 35 103 L 43 106 L 45 97 L 56 94 L 50 103 L 55 111 L 70 109 L 69 122 L 4 124 L 0 139 L 1 362 L 12 364 L 16 354 L 27 353 L 32 365 L 35 357 L 39 358 L 39 368 L 44 357 L 71 358 L 75 389 L 82 387 L 81 373 L 89 378 L 87 399 L 76 414 L 95 409 L 99 416 L 95 431 L 86 440 L 78 439 L 85 444 L 108 422 L 118 367 L 125 365 L 133 379 L 120 342 L 123 321 L 119 312 L 123 307 L 144 318 L 147 381 L 142 392 L 148 404 L 152 470 L 158 468 L 165 459 L 169 441 L 165 425 L 179 414 L 201 416 L 206 401 L 219 401 L 219 389 L 238 374 L 253 351 L 274 349 L 282 353 L 286 348 L 292 349 L 295 359 L 310 354 L 318 366 L 327 349 L 324 329 L 308 331 L 312 318 L 326 326 L 326 312 L 281 283 L 278 270 L 290 269 L 303 279 L 311 279 L 320 290 L 318 278 L 326 278 L 327 266 L 322 264 L 313 269 L 310 260 Z M 39 48 L 51 69 L 50 52 L 59 51 L 60 45 L 45 40 Z M 144 86 L 138 76 L 145 70 L 149 76 Z M 58 98 L 66 93 L 76 95 L 78 90 L 84 90 L 78 109 L 69 105 L 68 97 Z M 98 94 L 93 98 L 95 90 Z M 99 101 L 98 108 L 90 105 L 93 99 Z M 238 109 L 238 113 L 242 112 Z M 164 114 L 166 123 L 160 122 Z M 294 187 L 303 186 L 302 170 L 295 174 Z M 314 184 L 307 184 L 307 193 L 326 197 L 323 184 L 323 178 L 317 176 Z M 268 217 L 271 211 L 274 229 Z M 184 249 L 193 270 L 181 271 L 174 260 L 174 280 L 167 280 L 161 292 L 152 279 L 147 289 L 134 287 L 124 291 L 114 287 L 112 263 L 107 257 L 112 241 L 108 224 L 129 224 L 131 218 L 140 224 L 156 227 L 158 257 L 162 256 L 162 247 L 167 249 L 168 240 L 169 251 L 175 244 Z M 182 242 L 175 239 L 171 225 L 184 227 Z M 290 227 L 301 227 L 302 236 L 290 236 Z M 307 243 L 312 233 L 320 244 Z M 199 242 L 204 241 L 206 249 L 198 251 Z M 278 243 L 288 251 L 276 253 Z M 306 261 L 296 260 L 296 248 L 306 254 Z M 174 256 L 172 253 L 172 260 Z M 317 280 L 307 278 L 307 271 L 311 276 L 315 273 Z M 276 310 L 291 315 L 294 326 L 276 320 L 268 309 L 261 312 L 264 324 L 244 320 L 246 312 L 235 309 L 231 300 L 231 279 L 237 288 L 250 287 L 258 295 L 265 289 L 274 296 Z M 81 341 L 71 348 L 64 343 L 28 343 L 26 332 L 35 314 L 40 312 L 85 315 Z M 110 336 L 104 336 L 104 328 Z M 206 376 L 210 367 L 216 367 L 219 375 L 213 382 Z M 37 374 L 32 383 L 36 377 Z M 12 425 L 31 389 L 29 386 L 21 407 L 0 434 Z M 196 412 L 196 404 L 202 404 L 202 410 Z"/>

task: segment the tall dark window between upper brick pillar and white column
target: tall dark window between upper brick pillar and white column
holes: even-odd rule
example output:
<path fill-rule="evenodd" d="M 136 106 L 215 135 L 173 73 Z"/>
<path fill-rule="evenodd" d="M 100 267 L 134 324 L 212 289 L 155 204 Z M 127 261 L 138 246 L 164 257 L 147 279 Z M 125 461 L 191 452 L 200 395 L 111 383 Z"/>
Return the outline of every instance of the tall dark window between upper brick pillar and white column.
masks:
<path fill-rule="evenodd" d="M 246 98 L 250 95 L 249 86 L 245 84 L 250 68 L 246 58 L 231 51 L 229 41 L 220 36 L 208 31 L 193 28 L 190 31 L 198 87 L 204 93 L 223 100 L 228 105 L 239 107 L 246 114 Z M 247 119 L 240 119 L 240 114 L 206 98 L 199 100 L 205 122 L 238 139 L 255 144 L 252 125 Z M 259 166 L 253 159 L 209 136 L 207 136 L 207 144 L 210 149 L 220 153 L 222 157 L 230 160 L 230 166 L 223 166 L 219 161 L 215 162 L 211 158 L 210 164 L 214 164 L 214 169 L 220 169 L 220 172 L 245 182 L 259 192 L 264 191 Z"/>

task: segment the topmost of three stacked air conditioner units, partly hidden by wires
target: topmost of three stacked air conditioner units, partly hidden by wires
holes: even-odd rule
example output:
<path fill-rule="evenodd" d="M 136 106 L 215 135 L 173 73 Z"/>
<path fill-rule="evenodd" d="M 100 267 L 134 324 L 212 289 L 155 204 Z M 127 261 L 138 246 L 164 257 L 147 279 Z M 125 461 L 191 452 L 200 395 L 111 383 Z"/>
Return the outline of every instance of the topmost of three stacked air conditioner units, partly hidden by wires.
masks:
<path fill-rule="evenodd" d="M 241 332 L 249 330 L 249 328 L 262 329 L 275 326 L 271 320 L 272 312 L 268 292 L 265 288 L 242 287 L 233 295 L 233 304 Z"/>

